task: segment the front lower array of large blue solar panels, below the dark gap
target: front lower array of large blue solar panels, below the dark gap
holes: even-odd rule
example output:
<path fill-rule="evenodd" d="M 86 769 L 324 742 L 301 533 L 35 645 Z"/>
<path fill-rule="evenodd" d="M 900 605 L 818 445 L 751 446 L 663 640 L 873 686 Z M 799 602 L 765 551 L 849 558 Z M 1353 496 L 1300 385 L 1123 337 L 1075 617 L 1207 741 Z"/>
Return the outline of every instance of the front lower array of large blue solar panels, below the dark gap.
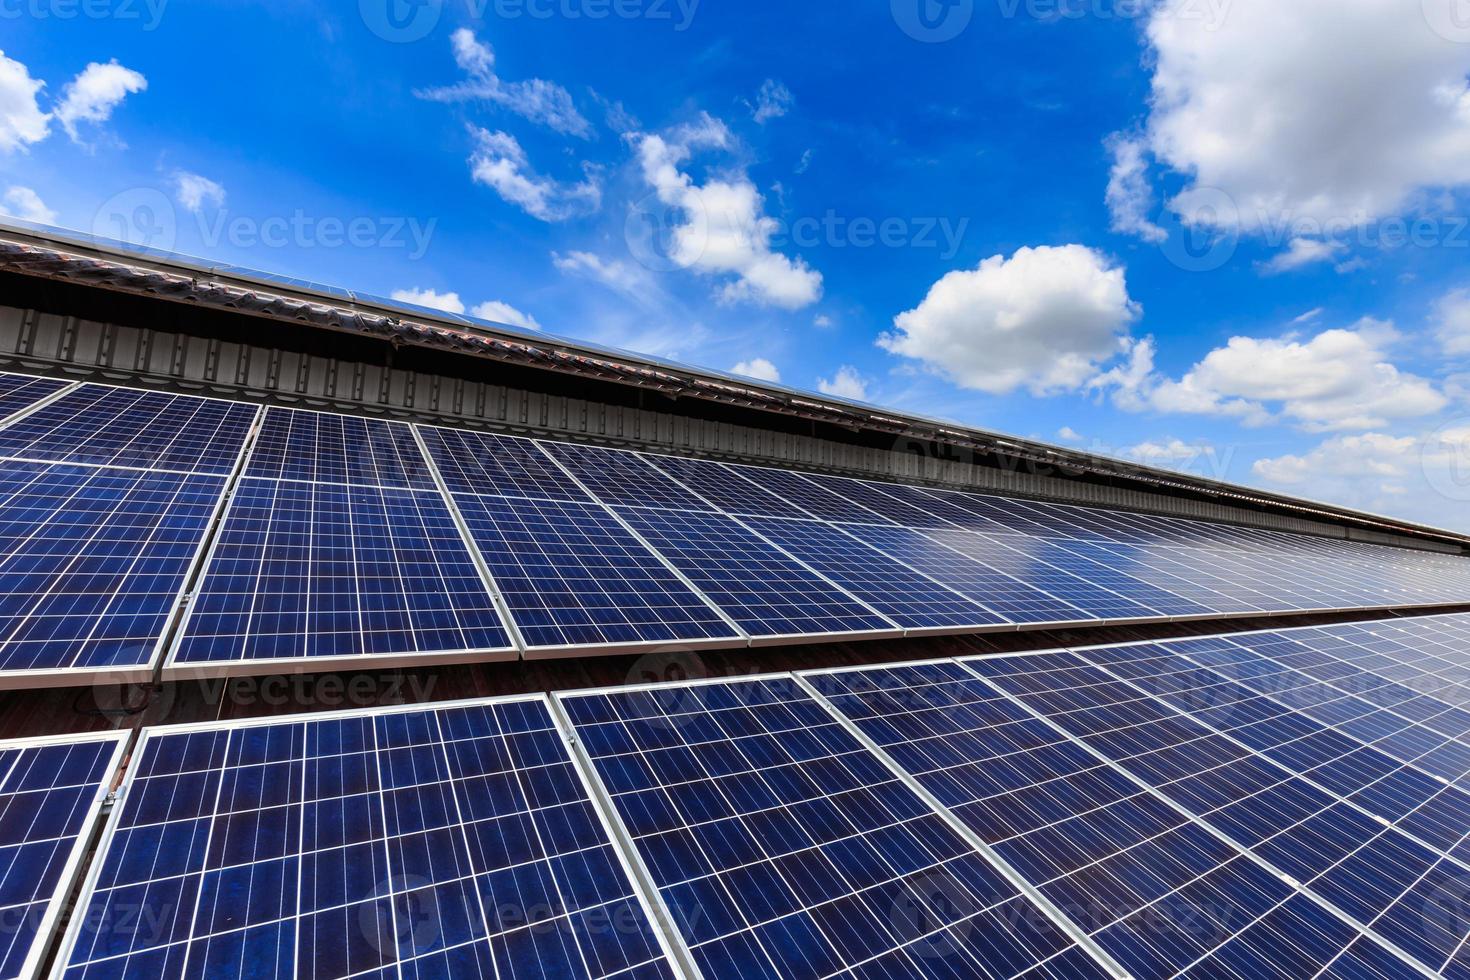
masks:
<path fill-rule="evenodd" d="M 1460 614 L 148 729 L 56 976 L 1454 979 L 1467 896 Z"/>

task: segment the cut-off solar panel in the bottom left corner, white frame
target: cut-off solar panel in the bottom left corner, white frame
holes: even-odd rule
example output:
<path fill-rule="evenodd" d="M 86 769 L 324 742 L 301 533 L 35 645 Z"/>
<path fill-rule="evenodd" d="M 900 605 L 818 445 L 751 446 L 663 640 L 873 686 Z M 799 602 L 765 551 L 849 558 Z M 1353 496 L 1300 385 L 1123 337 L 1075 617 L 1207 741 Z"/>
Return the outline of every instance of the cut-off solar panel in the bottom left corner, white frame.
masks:
<path fill-rule="evenodd" d="M 0 742 L 0 977 L 29 977 L 118 765 L 118 736 Z M 46 932 L 43 932 L 43 929 Z"/>

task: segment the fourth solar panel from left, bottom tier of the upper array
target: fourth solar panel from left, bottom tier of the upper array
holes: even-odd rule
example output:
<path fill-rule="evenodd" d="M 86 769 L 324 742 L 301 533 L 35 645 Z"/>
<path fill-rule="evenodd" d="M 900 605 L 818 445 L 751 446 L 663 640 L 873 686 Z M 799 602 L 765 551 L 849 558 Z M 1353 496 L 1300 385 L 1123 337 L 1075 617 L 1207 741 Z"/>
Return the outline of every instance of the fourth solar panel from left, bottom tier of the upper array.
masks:
<path fill-rule="evenodd" d="M 617 514 L 751 636 L 894 629 L 731 517 L 634 507 Z"/>

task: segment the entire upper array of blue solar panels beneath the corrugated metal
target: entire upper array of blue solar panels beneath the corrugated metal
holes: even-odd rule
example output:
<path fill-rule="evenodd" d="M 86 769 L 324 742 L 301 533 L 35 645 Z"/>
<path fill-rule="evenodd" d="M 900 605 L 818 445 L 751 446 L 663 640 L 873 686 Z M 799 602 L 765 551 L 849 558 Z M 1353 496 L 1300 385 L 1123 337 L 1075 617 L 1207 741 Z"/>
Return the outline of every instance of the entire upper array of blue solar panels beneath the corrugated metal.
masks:
<path fill-rule="evenodd" d="M 1170 517 L 19 375 L 6 410 L 4 686 L 1470 601 L 1463 557 Z"/>

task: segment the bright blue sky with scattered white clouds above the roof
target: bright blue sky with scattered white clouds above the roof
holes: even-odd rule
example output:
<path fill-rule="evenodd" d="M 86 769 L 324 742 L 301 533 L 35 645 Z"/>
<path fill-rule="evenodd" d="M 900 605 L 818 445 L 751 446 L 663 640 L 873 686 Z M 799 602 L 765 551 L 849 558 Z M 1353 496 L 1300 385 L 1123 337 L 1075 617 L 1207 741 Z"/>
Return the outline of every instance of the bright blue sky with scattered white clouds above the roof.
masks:
<path fill-rule="evenodd" d="M 7 0 L 3 210 L 1470 530 L 1458 0 Z"/>

